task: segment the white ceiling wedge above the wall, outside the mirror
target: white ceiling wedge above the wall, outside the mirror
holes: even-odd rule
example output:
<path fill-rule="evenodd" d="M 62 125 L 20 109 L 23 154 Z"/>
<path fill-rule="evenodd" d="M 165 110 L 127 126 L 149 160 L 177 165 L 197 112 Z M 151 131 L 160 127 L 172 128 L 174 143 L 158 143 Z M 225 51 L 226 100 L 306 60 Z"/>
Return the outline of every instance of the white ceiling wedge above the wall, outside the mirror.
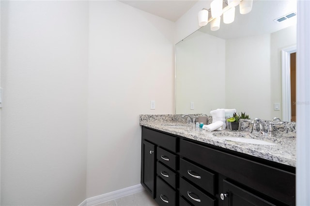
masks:
<path fill-rule="evenodd" d="M 120 0 L 121 2 L 175 22 L 198 0 Z"/>

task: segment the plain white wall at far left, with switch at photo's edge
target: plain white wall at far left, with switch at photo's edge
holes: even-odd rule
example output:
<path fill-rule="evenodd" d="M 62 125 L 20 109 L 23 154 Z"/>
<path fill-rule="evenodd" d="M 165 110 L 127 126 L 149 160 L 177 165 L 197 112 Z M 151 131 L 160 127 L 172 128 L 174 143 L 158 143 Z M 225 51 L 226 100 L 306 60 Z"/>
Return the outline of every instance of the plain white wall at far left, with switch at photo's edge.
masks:
<path fill-rule="evenodd" d="M 1 1 L 1 205 L 86 194 L 88 4 Z"/>

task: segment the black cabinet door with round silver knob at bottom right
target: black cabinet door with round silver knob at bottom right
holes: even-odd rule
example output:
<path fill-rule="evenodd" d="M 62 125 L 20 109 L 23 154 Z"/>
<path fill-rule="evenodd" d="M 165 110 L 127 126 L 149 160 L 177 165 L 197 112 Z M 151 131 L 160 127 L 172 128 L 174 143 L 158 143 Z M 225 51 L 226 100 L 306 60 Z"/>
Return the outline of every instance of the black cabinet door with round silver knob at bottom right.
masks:
<path fill-rule="evenodd" d="M 223 189 L 225 193 L 220 195 L 220 198 L 224 201 L 223 206 L 275 206 L 227 180 L 223 180 Z"/>

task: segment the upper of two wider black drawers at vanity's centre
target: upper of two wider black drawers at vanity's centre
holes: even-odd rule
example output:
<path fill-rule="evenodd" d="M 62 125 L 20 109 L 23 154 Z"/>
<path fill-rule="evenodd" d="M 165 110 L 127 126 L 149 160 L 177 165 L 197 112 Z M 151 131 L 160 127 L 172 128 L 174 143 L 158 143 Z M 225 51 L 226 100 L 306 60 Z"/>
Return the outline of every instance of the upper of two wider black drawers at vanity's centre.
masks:
<path fill-rule="evenodd" d="M 205 191 L 214 195 L 214 178 L 215 175 L 201 167 L 180 159 L 180 174 L 191 182 L 202 187 Z"/>

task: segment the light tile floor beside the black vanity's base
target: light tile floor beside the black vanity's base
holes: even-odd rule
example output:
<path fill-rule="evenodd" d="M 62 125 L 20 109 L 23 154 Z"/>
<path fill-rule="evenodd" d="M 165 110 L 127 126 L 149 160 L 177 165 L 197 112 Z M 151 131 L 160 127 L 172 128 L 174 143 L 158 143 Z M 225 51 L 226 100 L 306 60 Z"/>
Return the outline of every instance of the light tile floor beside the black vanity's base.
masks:
<path fill-rule="evenodd" d="M 141 191 L 96 206 L 158 206 L 147 191 Z"/>

